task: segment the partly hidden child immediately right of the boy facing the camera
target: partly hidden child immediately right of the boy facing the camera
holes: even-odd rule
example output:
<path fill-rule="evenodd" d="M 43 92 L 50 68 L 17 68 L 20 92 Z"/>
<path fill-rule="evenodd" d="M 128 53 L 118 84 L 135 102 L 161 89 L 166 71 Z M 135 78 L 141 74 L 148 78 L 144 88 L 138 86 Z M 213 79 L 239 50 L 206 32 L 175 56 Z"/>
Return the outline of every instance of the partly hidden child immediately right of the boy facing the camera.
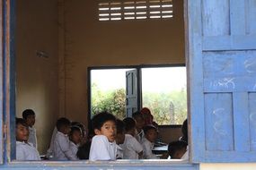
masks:
<path fill-rule="evenodd" d="M 117 135 L 116 135 L 117 159 L 122 159 L 124 156 L 123 149 L 119 146 L 123 144 L 124 141 L 125 141 L 125 123 L 117 119 Z"/>

